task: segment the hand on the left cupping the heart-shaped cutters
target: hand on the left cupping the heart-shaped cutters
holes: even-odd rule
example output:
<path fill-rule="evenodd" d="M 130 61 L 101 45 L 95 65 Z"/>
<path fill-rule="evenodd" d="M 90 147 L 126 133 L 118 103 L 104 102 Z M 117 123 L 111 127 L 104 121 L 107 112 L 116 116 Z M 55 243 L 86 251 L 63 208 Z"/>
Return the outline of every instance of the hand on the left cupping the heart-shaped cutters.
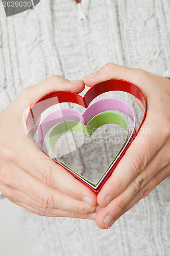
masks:
<path fill-rule="evenodd" d="M 54 91 L 84 89 L 84 82 L 52 76 L 28 87 L 0 115 L 0 190 L 13 203 L 37 215 L 93 219 L 96 195 L 46 156 L 27 137 L 27 109 Z M 94 219 L 93 219 L 94 220 Z"/>

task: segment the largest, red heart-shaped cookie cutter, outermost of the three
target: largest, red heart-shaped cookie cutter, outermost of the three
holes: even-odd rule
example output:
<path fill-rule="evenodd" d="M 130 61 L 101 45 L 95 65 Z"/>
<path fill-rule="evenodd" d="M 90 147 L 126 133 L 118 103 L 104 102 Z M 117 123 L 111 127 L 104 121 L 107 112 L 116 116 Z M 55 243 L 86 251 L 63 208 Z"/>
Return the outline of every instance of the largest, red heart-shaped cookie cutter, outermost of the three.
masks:
<path fill-rule="evenodd" d="M 135 86 L 135 84 L 122 80 L 122 79 L 112 79 L 108 81 L 104 81 L 98 84 L 95 84 L 93 87 L 91 87 L 88 92 L 85 94 L 84 97 L 80 96 L 79 94 L 73 93 L 73 92 L 65 92 L 65 91 L 59 91 L 59 92 L 53 92 L 50 94 L 45 95 L 41 99 L 39 99 L 31 108 L 28 117 L 27 117 L 27 129 L 28 129 L 28 136 L 31 138 L 34 136 L 35 132 L 37 131 L 38 124 L 39 124 L 39 118 L 41 116 L 41 113 L 43 113 L 47 108 L 50 108 L 50 106 L 55 105 L 57 103 L 62 102 L 72 102 L 77 103 L 79 105 L 84 106 L 85 108 L 88 107 L 90 102 L 97 96 L 110 91 L 123 91 L 130 93 L 131 95 L 135 96 L 140 100 L 142 105 L 144 106 L 144 115 L 143 119 L 140 123 L 140 126 L 136 133 L 132 136 L 131 140 L 126 143 L 125 147 L 123 148 L 122 152 L 119 154 L 119 157 L 115 159 L 114 165 L 110 166 L 110 168 L 107 171 L 107 176 L 104 175 L 104 179 L 102 180 L 102 183 L 95 188 L 91 187 L 89 184 L 87 184 L 85 181 L 81 180 L 80 177 L 77 177 L 79 180 L 84 182 L 87 186 L 89 186 L 96 194 L 99 193 L 101 187 L 106 182 L 106 180 L 110 177 L 111 173 L 113 172 L 114 168 L 117 166 L 120 159 L 122 159 L 123 155 L 127 151 L 128 147 L 130 146 L 131 142 L 136 137 L 137 133 L 140 130 L 141 125 L 144 122 L 144 118 L 147 112 L 147 102 L 144 98 L 143 93 L 140 91 L 140 89 Z M 60 164 L 60 163 L 59 163 Z M 69 172 L 69 170 L 68 170 Z M 72 174 L 74 175 L 74 174 Z"/>

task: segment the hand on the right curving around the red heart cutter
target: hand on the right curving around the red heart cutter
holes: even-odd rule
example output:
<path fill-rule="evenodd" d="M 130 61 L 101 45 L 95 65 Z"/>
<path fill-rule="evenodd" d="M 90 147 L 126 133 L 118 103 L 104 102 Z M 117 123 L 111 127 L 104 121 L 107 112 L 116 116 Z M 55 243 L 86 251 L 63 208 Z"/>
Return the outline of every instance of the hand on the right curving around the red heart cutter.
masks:
<path fill-rule="evenodd" d="M 109 228 L 170 175 L 170 80 L 141 69 L 107 63 L 94 74 L 84 76 L 83 81 L 91 87 L 113 78 L 128 80 L 140 88 L 147 100 L 147 116 L 142 132 L 98 194 L 101 208 L 95 222 L 100 228 Z"/>

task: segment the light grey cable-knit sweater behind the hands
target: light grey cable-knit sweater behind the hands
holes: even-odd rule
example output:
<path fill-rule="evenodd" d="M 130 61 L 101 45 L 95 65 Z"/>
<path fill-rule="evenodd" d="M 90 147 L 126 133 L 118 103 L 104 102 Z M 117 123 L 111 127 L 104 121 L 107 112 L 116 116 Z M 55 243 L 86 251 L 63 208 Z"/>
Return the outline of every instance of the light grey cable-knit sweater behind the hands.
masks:
<path fill-rule="evenodd" d="M 0 112 L 25 87 L 50 75 L 79 80 L 107 62 L 170 76 L 169 8 L 169 0 L 82 0 L 81 6 L 75 0 L 41 0 L 34 9 L 2 17 Z M 139 125 L 142 112 L 132 97 L 112 96 L 132 106 Z M 63 138 L 61 152 L 67 143 Z M 93 170 L 99 163 L 105 168 L 110 152 L 111 145 L 101 143 L 96 157 L 92 146 L 84 146 L 65 160 L 94 178 Z M 93 162 L 84 168 L 83 159 Z M 25 255 L 170 255 L 169 185 L 167 178 L 108 230 L 90 220 L 40 217 L 23 209 Z"/>

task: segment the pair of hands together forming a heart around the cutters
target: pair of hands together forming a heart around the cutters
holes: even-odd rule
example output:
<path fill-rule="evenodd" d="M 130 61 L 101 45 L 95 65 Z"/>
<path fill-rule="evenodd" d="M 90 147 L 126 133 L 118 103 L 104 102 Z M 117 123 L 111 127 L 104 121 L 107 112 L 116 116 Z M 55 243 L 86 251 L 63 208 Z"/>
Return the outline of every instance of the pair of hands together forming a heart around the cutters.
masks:
<path fill-rule="evenodd" d="M 45 94 L 80 93 L 85 84 L 91 87 L 113 78 L 141 89 L 147 99 L 147 116 L 142 132 L 96 196 L 27 138 L 26 109 Z M 6 198 L 40 216 L 90 219 L 100 228 L 109 228 L 170 175 L 170 80 L 113 63 L 84 76 L 83 81 L 55 75 L 26 88 L 8 105 L 0 115 L 0 134 L 0 190 Z"/>

